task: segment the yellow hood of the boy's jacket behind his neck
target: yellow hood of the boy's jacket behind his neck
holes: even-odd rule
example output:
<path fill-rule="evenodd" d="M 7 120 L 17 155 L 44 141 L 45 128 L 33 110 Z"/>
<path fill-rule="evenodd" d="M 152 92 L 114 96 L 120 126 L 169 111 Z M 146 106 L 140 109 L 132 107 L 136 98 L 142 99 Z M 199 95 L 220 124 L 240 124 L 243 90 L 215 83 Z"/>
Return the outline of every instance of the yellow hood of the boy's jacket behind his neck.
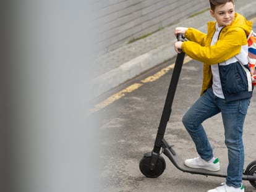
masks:
<path fill-rule="evenodd" d="M 215 28 L 216 22 L 208 22 L 208 28 Z M 243 15 L 239 13 L 235 13 L 234 21 L 231 25 L 227 25 L 226 28 L 242 28 L 247 34 L 252 30 L 252 22 L 247 20 Z"/>

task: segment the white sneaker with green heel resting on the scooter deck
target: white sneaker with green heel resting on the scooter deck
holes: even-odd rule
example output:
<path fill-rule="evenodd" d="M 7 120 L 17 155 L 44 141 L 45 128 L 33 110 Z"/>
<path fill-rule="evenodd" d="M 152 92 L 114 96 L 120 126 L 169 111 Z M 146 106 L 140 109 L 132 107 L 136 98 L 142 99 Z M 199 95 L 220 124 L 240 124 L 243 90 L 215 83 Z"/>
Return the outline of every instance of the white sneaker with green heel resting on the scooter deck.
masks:
<path fill-rule="evenodd" d="M 213 172 L 217 172 L 220 170 L 220 162 L 219 159 L 216 158 L 213 162 L 207 162 L 203 160 L 201 157 L 196 157 L 194 159 L 185 160 L 184 164 L 187 167 L 197 168 L 197 169 L 206 169 Z"/>

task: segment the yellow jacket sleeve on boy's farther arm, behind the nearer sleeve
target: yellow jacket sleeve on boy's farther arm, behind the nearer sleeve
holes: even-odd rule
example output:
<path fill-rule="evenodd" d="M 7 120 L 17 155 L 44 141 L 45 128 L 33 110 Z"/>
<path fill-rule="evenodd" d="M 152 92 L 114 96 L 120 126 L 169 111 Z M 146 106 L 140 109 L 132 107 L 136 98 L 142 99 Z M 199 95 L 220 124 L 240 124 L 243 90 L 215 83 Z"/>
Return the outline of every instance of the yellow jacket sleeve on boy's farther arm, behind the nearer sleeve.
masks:
<path fill-rule="evenodd" d="M 187 40 L 193 41 L 202 46 L 205 44 L 205 38 L 207 37 L 207 35 L 205 33 L 203 33 L 202 31 L 199 31 L 195 28 L 188 28 L 185 36 L 186 36 Z"/>

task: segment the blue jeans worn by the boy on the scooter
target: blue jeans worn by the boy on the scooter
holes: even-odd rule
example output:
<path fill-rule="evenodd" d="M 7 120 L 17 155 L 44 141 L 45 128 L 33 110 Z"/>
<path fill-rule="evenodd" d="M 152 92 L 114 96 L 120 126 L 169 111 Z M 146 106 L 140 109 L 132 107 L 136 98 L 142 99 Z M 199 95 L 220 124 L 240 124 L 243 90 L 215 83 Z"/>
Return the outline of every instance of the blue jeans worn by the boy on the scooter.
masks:
<path fill-rule="evenodd" d="M 244 168 L 242 131 L 249 104 L 250 99 L 226 102 L 224 99 L 216 97 L 212 88 L 208 88 L 182 118 L 199 156 L 205 161 L 209 161 L 213 157 L 213 149 L 203 129 L 202 122 L 221 112 L 229 159 L 226 184 L 236 188 L 240 187 L 242 183 Z"/>

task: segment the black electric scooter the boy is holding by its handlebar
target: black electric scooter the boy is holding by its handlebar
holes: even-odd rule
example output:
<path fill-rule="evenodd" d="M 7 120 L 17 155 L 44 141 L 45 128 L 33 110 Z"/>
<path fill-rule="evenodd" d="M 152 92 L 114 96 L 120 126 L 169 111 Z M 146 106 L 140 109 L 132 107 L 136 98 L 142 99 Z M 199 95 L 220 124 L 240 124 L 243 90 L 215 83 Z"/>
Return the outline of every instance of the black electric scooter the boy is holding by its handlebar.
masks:
<path fill-rule="evenodd" d="M 177 35 L 177 41 L 184 41 L 184 39 L 184 36 L 182 36 L 181 34 Z M 184 165 L 184 160 L 178 156 L 176 151 L 174 151 L 174 145 L 169 145 L 167 141 L 164 140 L 164 133 L 167 123 L 169 121 L 169 117 L 171 115 L 171 106 L 173 104 L 174 94 L 176 92 L 179 75 L 181 73 L 182 65 L 184 62 L 184 57 L 184 52 L 177 54 L 173 75 L 171 77 L 168 93 L 164 102 L 163 112 L 156 135 L 154 148 L 153 151 L 147 152 L 143 155 L 143 158 L 140 160 L 139 164 L 140 171 L 143 173 L 143 175 L 149 178 L 159 177 L 166 168 L 166 162 L 164 161 L 163 156 L 161 156 L 161 153 L 163 152 L 163 154 L 169 158 L 174 166 L 182 172 L 205 175 L 207 177 L 227 177 L 225 167 L 223 167 L 218 172 L 211 172 L 205 169 L 192 169 L 190 167 L 187 167 L 186 165 Z M 256 188 L 256 161 L 252 161 L 249 165 L 247 165 L 247 168 L 243 172 L 242 180 L 248 180 L 250 184 Z"/>

